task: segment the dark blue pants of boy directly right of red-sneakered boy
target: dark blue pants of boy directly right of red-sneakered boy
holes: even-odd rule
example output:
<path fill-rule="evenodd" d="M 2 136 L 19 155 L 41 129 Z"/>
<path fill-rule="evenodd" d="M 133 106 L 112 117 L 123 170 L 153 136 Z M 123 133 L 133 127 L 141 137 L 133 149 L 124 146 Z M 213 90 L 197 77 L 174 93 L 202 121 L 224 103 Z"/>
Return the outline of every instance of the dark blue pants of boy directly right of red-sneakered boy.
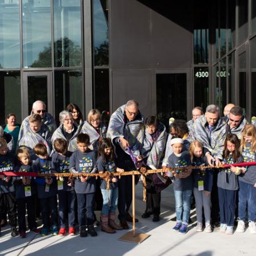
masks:
<path fill-rule="evenodd" d="M 76 194 L 79 226 L 85 226 L 85 212 L 88 226 L 93 225 L 94 222 L 94 193 L 89 194 Z"/>

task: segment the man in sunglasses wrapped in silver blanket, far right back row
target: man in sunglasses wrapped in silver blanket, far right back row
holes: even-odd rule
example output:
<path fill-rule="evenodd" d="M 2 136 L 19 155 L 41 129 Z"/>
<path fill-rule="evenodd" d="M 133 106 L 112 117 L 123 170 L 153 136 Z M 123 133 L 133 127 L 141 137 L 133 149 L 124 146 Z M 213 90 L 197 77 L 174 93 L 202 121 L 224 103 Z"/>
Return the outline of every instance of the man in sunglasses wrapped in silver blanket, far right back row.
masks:
<path fill-rule="evenodd" d="M 248 122 L 243 116 L 243 109 L 240 106 L 234 106 L 232 109 L 230 109 L 227 123 L 229 125 L 229 133 L 236 134 L 238 139 L 241 139 L 241 131 L 243 126 L 245 126 Z"/>

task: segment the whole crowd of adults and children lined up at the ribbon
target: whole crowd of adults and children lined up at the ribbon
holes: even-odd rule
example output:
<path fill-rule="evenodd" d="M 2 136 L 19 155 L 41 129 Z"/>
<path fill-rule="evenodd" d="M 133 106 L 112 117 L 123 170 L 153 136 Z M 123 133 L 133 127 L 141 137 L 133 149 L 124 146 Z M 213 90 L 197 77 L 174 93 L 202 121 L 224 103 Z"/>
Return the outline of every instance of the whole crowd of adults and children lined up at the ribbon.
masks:
<path fill-rule="evenodd" d="M 133 221 L 130 175 L 95 179 L 1 172 L 109 174 L 146 167 L 163 168 L 163 174 L 146 176 L 142 218 L 160 220 L 161 191 L 173 183 L 176 232 L 188 232 L 195 201 L 197 232 L 212 232 L 220 226 L 220 232 L 233 234 L 237 224 L 236 232 L 242 233 L 248 222 L 250 233 L 256 234 L 256 166 L 232 166 L 255 162 L 256 127 L 246 121 L 242 108 L 228 104 L 221 117 L 216 105 L 207 106 L 205 113 L 195 107 L 191 121 L 172 121 L 167 128 L 154 115 L 144 118 L 134 100 L 115 110 L 108 127 L 97 109 L 90 110 L 84 120 L 72 103 L 59 114 L 59 127 L 42 101 L 34 102 L 20 127 L 15 114 L 9 114 L 5 129 L 0 127 L 0 221 L 8 214 L 11 236 L 22 238 L 27 231 L 26 213 L 28 229 L 42 236 L 73 236 L 77 231 L 81 237 L 97 236 L 96 201 L 102 231 L 129 229 L 127 222 Z M 231 166 L 220 168 L 222 164 Z M 42 229 L 36 224 L 36 209 Z"/>

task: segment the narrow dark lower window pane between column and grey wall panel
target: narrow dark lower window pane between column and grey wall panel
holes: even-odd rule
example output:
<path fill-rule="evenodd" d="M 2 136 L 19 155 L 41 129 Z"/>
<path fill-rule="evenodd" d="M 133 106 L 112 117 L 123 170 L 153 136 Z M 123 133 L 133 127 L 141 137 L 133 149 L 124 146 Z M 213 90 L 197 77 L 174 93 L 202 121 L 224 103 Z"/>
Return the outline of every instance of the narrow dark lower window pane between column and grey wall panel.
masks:
<path fill-rule="evenodd" d="M 109 69 L 94 69 L 94 102 L 101 112 L 109 111 Z"/>

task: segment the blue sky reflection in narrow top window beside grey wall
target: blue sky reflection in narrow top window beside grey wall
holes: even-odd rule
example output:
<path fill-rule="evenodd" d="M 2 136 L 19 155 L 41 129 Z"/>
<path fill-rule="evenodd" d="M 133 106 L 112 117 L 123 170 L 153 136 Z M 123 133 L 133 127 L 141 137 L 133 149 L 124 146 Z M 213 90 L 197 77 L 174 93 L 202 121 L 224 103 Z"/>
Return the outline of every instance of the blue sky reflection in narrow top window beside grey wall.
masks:
<path fill-rule="evenodd" d="M 100 0 L 93 1 L 94 21 L 94 47 L 100 46 L 105 40 L 108 41 L 108 23 L 104 15 Z"/>

